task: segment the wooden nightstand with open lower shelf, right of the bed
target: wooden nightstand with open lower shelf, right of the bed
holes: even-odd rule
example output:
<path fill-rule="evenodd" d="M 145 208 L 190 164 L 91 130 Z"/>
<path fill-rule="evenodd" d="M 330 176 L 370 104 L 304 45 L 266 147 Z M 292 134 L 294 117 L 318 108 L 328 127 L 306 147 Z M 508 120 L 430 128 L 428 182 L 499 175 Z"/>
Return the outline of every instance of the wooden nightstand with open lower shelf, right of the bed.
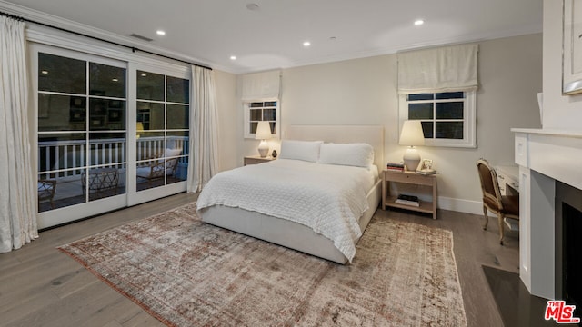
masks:
<path fill-rule="evenodd" d="M 406 205 L 396 203 L 398 198 L 397 194 L 390 194 L 390 182 L 393 183 L 410 183 L 415 185 L 426 185 L 432 188 L 433 201 L 426 202 L 419 200 L 419 206 Z M 412 210 L 420 213 L 431 213 L 433 219 L 437 219 L 437 176 L 432 175 L 421 175 L 414 172 L 398 172 L 384 170 L 382 172 L 382 210 L 386 210 L 386 206 L 393 208 L 400 208 L 406 210 Z"/>

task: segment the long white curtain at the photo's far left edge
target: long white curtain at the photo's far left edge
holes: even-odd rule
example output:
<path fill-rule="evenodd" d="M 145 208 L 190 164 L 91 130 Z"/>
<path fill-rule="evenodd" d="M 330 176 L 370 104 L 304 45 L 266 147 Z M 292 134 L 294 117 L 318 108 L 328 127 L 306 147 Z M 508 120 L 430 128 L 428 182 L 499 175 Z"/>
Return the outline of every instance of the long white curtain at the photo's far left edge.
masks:
<path fill-rule="evenodd" d="M 0 16 L 0 253 L 38 237 L 25 23 Z"/>

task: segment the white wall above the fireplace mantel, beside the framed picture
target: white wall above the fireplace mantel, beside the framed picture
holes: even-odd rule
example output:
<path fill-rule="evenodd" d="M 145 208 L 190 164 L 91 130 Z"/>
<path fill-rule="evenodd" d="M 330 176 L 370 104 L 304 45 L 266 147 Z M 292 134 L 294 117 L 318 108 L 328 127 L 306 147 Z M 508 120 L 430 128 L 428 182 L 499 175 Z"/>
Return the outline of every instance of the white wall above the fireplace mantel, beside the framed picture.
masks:
<path fill-rule="evenodd" d="M 562 2 L 544 1 L 544 128 L 582 130 L 582 94 L 562 95 Z"/>

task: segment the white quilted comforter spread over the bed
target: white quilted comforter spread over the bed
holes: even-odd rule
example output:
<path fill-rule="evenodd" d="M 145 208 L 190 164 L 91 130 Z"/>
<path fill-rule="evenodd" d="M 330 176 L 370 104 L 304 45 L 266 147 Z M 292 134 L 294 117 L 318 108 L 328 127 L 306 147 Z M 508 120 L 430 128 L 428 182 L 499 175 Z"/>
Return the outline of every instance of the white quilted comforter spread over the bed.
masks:
<path fill-rule="evenodd" d="M 332 240 L 351 263 L 375 169 L 286 159 L 247 165 L 217 173 L 200 193 L 197 210 L 226 205 L 304 224 Z"/>

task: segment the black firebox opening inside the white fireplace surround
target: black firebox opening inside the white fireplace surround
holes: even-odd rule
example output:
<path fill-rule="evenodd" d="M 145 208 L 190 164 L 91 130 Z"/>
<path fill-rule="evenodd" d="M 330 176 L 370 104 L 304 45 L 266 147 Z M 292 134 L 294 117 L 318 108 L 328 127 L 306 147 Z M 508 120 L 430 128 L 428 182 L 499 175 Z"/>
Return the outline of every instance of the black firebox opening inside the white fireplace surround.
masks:
<path fill-rule="evenodd" d="M 582 190 L 556 181 L 556 297 L 582 304 Z M 577 312 L 575 316 L 579 316 Z"/>

